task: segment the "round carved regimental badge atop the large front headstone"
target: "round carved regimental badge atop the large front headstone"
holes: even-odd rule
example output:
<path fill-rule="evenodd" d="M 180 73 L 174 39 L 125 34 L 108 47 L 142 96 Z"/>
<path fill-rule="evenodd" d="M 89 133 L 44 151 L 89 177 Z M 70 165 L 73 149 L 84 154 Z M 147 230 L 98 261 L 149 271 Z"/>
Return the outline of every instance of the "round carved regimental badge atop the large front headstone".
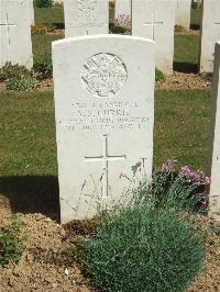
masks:
<path fill-rule="evenodd" d="M 99 98 L 114 96 L 124 86 L 127 77 L 123 61 L 109 53 L 91 56 L 84 65 L 81 74 L 84 87 Z"/>

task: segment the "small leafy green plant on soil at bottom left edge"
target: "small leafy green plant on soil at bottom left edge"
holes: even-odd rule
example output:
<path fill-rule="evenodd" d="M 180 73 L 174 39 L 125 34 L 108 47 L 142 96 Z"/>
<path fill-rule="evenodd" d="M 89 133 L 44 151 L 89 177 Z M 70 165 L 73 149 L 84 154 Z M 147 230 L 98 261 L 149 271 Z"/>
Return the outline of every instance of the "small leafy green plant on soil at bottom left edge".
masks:
<path fill-rule="evenodd" d="M 0 265 L 19 261 L 24 249 L 26 237 L 22 235 L 24 223 L 14 215 L 9 225 L 0 227 Z"/>

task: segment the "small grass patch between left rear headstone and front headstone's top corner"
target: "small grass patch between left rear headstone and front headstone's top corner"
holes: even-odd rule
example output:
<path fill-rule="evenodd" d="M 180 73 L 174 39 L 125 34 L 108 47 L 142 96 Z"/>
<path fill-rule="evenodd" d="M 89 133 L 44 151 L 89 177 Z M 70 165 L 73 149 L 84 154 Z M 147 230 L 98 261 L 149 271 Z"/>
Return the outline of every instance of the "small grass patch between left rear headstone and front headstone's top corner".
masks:
<path fill-rule="evenodd" d="M 32 35 L 34 63 L 36 63 L 44 56 L 51 56 L 52 42 L 61 40 L 63 37 L 64 36 L 62 35 L 44 35 L 44 34 Z"/>

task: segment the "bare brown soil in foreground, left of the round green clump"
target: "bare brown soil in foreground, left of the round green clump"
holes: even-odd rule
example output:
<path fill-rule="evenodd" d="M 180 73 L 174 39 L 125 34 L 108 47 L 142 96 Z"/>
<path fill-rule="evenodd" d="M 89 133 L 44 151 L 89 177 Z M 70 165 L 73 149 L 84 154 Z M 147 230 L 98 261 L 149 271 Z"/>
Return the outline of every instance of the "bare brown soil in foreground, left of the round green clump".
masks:
<path fill-rule="evenodd" d="M 8 204 L 1 202 L 0 225 L 9 223 L 10 215 Z M 0 268 L 0 291 L 94 291 L 69 258 L 63 226 L 42 214 L 18 216 L 26 224 L 28 246 L 18 263 Z"/>

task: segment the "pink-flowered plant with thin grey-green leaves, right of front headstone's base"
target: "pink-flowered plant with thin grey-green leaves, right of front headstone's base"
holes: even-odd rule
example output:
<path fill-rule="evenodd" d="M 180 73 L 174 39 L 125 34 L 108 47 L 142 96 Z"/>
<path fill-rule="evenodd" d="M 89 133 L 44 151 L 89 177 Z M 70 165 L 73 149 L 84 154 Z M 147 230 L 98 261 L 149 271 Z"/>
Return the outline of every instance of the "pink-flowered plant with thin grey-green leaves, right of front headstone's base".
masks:
<path fill-rule="evenodd" d="M 182 166 L 175 172 L 176 162 L 176 159 L 168 159 L 162 165 L 162 169 L 153 173 L 155 205 L 172 210 L 205 211 L 208 203 L 206 186 L 210 184 L 210 177 L 188 166 Z"/>

